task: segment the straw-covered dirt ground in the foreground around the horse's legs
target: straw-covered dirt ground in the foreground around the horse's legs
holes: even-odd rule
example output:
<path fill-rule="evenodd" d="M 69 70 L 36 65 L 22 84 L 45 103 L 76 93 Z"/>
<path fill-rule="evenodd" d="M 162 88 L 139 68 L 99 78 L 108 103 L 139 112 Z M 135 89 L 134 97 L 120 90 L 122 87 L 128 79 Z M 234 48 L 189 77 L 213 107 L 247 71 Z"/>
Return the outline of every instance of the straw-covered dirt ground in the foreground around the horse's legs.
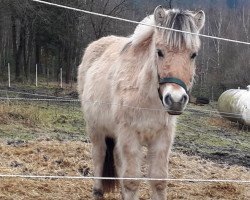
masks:
<path fill-rule="evenodd" d="M 0 144 L 0 174 L 92 176 L 91 144 L 76 141 L 36 141 Z M 245 167 L 217 164 L 197 156 L 173 152 L 170 178 L 250 180 Z M 92 199 L 92 180 L 0 178 L 0 199 Z M 247 200 L 250 185 L 236 183 L 169 182 L 169 200 Z M 150 199 L 147 183 L 140 200 Z M 119 192 L 106 199 L 120 199 Z"/>

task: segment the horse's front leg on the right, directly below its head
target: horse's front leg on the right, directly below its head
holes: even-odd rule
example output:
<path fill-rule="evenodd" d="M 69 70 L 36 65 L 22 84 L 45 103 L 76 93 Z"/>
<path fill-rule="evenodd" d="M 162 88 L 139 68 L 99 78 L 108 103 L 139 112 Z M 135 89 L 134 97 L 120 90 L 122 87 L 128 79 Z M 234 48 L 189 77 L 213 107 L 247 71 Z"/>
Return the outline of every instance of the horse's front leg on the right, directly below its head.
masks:
<path fill-rule="evenodd" d="M 172 139 L 167 135 L 161 135 L 149 146 L 149 177 L 167 178 L 168 162 Z M 150 181 L 152 188 L 152 200 L 166 200 L 166 181 Z"/>

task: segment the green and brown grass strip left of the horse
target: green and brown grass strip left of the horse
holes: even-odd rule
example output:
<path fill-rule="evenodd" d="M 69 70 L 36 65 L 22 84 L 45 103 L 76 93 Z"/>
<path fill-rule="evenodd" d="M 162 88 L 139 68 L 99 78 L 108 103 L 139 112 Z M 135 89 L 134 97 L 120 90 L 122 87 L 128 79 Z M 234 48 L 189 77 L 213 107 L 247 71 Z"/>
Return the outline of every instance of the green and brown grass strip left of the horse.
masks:
<path fill-rule="evenodd" d="M 0 124 L 2 139 L 85 138 L 85 122 L 78 104 L 3 102 L 0 104 Z"/>

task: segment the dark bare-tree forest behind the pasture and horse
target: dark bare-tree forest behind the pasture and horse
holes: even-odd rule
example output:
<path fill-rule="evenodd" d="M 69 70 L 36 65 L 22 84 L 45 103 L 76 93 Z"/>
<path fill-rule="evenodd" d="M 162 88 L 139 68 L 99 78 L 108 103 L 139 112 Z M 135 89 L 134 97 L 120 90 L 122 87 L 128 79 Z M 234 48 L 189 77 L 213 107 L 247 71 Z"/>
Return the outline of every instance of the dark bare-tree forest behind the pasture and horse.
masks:
<path fill-rule="evenodd" d="M 46 0 L 78 9 L 140 21 L 161 4 L 166 8 L 202 9 L 202 34 L 250 42 L 249 0 Z M 43 5 L 32 0 L 0 0 L 0 83 L 41 78 L 76 81 L 86 46 L 106 35 L 128 36 L 135 24 Z M 216 100 L 229 88 L 250 84 L 250 46 L 201 38 L 193 94 Z"/>

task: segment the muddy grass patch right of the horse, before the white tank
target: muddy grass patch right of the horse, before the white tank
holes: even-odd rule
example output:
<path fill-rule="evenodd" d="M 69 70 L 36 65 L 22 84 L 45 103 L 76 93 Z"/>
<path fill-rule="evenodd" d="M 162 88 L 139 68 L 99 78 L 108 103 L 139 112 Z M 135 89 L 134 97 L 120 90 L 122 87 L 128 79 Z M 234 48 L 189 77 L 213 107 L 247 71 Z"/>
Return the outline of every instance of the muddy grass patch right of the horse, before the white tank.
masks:
<path fill-rule="evenodd" d="M 250 167 L 249 131 L 216 115 L 214 107 L 216 104 L 189 105 L 189 110 L 179 117 L 174 147 L 187 154 Z M 211 112 L 205 112 L 208 110 Z"/>

